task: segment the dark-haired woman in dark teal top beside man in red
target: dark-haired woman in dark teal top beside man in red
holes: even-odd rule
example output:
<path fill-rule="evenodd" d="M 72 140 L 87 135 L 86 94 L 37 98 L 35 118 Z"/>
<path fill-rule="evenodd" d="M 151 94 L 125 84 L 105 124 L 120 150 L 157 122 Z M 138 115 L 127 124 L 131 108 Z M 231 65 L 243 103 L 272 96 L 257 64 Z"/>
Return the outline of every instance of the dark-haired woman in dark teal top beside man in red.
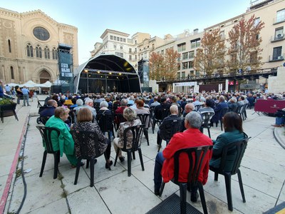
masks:
<path fill-rule="evenodd" d="M 247 138 L 247 134 L 242 130 L 242 117 L 239 116 L 239 114 L 232 111 L 226 113 L 223 118 L 223 124 L 224 133 L 220 134 L 217 137 L 217 140 L 213 141 L 213 156 L 209 165 L 214 168 L 219 168 L 224 146 L 227 146 L 233 141 L 240 141 Z M 227 163 L 225 165 L 226 171 L 232 170 L 234 158 L 234 154 L 232 156 L 227 156 Z"/>

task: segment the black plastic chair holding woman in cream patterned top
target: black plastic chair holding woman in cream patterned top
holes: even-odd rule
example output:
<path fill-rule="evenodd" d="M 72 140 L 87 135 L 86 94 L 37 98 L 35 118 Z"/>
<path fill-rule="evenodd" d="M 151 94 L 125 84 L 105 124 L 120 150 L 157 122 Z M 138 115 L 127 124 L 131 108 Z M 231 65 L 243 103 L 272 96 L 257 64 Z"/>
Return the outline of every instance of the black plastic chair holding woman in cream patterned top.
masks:
<path fill-rule="evenodd" d="M 133 153 L 133 159 L 135 160 L 135 151 L 138 151 L 138 154 L 140 156 L 140 165 L 142 165 L 142 170 L 145 170 L 145 167 L 143 165 L 142 161 L 142 150 L 140 148 L 140 143 L 142 141 L 142 133 L 144 130 L 145 125 L 139 125 L 139 126 L 131 126 L 129 128 L 126 128 L 123 133 L 123 140 L 124 140 L 124 146 L 123 148 L 118 148 L 116 151 L 116 156 L 115 156 L 115 163 L 114 166 L 117 163 L 118 160 L 118 154 L 119 151 L 124 151 L 128 155 L 128 176 L 130 177 L 131 175 L 131 161 L 132 161 L 132 153 Z M 133 135 L 133 141 L 132 141 L 132 147 L 129 148 L 127 147 L 127 133 L 131 132 Z"/>

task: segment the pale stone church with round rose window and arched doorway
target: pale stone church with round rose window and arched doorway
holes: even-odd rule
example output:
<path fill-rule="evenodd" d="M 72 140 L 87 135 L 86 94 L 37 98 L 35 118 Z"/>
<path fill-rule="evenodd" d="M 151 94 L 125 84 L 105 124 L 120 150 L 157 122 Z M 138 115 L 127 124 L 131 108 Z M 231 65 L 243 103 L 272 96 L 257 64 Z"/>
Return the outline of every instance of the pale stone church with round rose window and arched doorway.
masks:
<path fill-rule="evenodd" d="M 72 46 L 73 66 L 78 66 L 78 29 L 41 10 L 18 13 L 0 8 L 0 44 L 0 79 L 6 83 L 56 80 L 58 44 Z"/>

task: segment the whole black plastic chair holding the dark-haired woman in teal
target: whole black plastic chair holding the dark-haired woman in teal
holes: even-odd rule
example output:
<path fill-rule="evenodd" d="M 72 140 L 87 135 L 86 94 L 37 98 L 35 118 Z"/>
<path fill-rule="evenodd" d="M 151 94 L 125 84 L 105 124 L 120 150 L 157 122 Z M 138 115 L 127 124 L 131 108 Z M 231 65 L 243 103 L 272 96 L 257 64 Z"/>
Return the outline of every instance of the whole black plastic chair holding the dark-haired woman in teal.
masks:
<path fill-rule="evenodd" d="M 224 146 L 222 151 L 222 158 L 219 168 L 214 168 L 211 165 L 209 169 L 214 172 L 214 180 L 218 180 L 218 175 L 224 175 L 224 181 L 226 183 L 226 190 L 227 190 L 227 205 L 229 210 L 233 210 L 232 208 L 232 185 L 231 179 L 232 175 L 237 173 L 237 177 L 239 178 L 239 188 L 242 193 L 242 201 L 245 203 L 245 196 L 244 196 L 244 187 L 242 185 L 242 174 L 239 170 L 239 166 L 242 162 L 242 157 L 244 156 L 244 151 L 247 148 L 247 142 L 249 138 L 245 138 L 242 141 L 235 141 L 229 143 L 227 146 Z M 233 156 L 235 154 L 235 158 L 233 161 L 233 167 L 231 171 L 225 171 L 225 166 L 227 164 L 227 156 Z"/>

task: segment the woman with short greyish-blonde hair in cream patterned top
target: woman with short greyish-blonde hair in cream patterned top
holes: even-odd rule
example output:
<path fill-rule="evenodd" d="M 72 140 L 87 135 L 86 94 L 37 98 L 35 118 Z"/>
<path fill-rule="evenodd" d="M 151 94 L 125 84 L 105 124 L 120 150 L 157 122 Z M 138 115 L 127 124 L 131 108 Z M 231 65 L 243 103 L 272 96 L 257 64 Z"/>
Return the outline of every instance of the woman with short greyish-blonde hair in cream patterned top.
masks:
<path fill-rule="evenodd" d="M 115 152 L 117 153 L 118 148 L 123 148 L 124 146 L 124 139 L 123 139 L 123 133 L 125 128 L 129 128 L 131 126 L 138 126 L 142 123 L 137 118 L 137 113 L 135 113 L 135 109 L 133 108 L 125 108 L 123 111 L 123 117 L 127 120 L 126 122 L 120 123 L 119 129 L 118 129 L 118 138 L 114 139 L 114 148 Z M 127 147 L 130 148 L 132 146 L 133 142 L 133 134 L 131 132 L 127 133 Z M 122 156 L 122 151 L 119 151 L 118 157 L 120 159 L 120 162 L 125 161 L 125 157 Z"/>

